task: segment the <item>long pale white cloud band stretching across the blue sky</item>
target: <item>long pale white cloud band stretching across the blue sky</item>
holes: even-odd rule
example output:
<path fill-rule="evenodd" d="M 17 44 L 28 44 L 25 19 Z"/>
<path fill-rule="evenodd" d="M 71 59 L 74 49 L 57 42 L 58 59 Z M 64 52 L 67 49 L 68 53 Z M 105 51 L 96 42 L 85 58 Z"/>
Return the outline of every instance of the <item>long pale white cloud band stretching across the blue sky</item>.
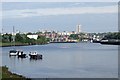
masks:
<path fill-rule="evenodd" d="M 69 15 L 69 14 L 101 14 L 117 12 L 118 12 L 117 6 L 23 9 L 23 10 L 5 10 L 3 11 L 3 18 L 25 18 L 33 16 Z"/>

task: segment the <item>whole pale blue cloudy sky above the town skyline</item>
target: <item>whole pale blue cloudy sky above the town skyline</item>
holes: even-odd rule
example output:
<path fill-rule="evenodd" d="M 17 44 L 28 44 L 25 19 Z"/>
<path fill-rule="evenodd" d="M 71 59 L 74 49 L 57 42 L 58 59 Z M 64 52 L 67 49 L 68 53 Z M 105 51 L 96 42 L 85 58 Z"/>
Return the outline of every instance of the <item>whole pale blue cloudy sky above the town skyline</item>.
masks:
<path fill-rule="evenodd" d="M 118 31 L 117 2 L 3 2 L 3 32 Z"/>

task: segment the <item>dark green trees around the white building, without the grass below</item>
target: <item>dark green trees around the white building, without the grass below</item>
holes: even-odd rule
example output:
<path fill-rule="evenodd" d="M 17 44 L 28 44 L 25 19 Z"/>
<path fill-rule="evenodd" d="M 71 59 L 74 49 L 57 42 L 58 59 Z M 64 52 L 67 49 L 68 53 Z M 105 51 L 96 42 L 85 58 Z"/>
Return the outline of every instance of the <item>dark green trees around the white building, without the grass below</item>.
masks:
<path fill-rule="evenodd" d="M 47 39 L 45 36 L 38 36 L 37 40 L 36 39 L 30 39 L 27 37 L 27 34 L 19 34 L 17 33 L 16 35 L 12 35 L 12 34 L 3 34 L 0 35 L 1 36 L 1 42 L 2 43 L 12 43 L 14 42 L 15 39 L 15 43 L 27 43 L 27 44 L 46 44 L 49 39 Z"/>

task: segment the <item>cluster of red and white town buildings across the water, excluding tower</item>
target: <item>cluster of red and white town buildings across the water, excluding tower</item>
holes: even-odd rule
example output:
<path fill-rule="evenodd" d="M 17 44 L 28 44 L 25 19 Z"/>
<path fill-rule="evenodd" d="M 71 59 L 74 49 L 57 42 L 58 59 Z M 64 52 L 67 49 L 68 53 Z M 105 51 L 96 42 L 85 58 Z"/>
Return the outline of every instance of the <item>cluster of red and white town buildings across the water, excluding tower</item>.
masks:
<path fill-rule="evenodd" d="M 38 34 L 38 36 L 45 36 L 46 38 L 49 38 L 50 42 L 72 42 L 77 40 L 70 39 L 70 35 L 75 34 L 75 31 L 63 31 L 63 32 L 58 32 L 58 31 L 44 31 Z"/>

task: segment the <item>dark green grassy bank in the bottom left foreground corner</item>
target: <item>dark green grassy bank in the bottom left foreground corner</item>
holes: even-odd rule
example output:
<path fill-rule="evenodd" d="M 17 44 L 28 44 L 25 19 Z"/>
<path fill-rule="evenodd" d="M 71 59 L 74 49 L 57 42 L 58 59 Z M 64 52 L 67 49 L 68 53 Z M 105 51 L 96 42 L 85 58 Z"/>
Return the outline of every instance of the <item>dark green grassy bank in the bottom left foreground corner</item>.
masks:
<path fill-rule="evenodd" d="M 8 71 L 8 67 L 0 67 L 2 70 L 2 80 L 30 80 L 22 75 L 17 75 Z"/>

